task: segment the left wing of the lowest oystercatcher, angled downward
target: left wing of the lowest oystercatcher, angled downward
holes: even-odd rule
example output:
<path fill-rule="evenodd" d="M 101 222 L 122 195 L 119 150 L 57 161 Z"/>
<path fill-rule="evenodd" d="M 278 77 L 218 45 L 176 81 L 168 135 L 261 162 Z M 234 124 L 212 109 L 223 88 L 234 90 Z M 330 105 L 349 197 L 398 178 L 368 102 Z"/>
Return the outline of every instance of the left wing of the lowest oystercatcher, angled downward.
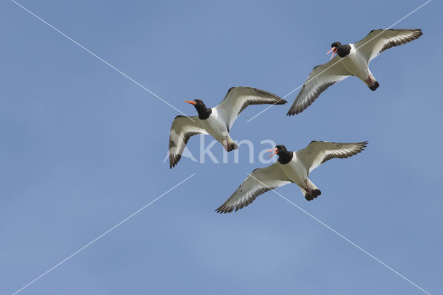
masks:
<path fill-rule="evenodd" d="M 268 190 L 289 184 L 291 181 L 284 174 L 280 165 L 280 163 L 275 162 L 266 168 L 253 170 L 237 190 L 235 190 L 233 195 L 231 195 L 223 205 L 217 208 L 216 212 L 229 213 L 234 209 L 237 211 L 251 204 L 256 197 L 266 193 Z"/>

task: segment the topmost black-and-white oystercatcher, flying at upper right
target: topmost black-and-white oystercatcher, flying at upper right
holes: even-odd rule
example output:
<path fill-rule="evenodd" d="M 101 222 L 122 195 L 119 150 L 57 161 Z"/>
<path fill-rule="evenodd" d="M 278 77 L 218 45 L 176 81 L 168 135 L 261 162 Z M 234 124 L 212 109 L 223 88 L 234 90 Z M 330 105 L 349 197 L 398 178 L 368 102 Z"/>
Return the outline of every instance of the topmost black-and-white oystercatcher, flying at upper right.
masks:
<path fill-rule="evenodd" d="M 369 89 L 375 91 L 380 84 L 369 70 L 370 61 L 386 49 L 406 44 L 421 35 L 422 29 L 378 29 L 371 30 L 366 37 L 354 44 L 332 43 L 332 49 L 326 53 L 332 52 L 331 60 L 312 69 L 286 116 L 301 113 L 327 87 L 349 76 L 359 78 Z M 332 59 L 335 54 L 336 57 Z"/>

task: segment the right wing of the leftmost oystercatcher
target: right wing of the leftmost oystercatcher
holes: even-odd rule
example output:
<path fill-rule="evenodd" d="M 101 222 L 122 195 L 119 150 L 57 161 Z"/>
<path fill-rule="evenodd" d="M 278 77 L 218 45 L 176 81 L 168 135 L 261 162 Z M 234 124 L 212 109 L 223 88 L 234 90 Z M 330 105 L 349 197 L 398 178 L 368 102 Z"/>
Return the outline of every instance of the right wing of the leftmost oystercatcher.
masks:
<path fill-rule="evenodd" d="M 264 90 L 252 87 L 232 87 L 224 99 L 215 107 L 217 114 L 224 118 L 228 131 L 235 119 L 248 105 L 284 105 L 286 100 Z"/>

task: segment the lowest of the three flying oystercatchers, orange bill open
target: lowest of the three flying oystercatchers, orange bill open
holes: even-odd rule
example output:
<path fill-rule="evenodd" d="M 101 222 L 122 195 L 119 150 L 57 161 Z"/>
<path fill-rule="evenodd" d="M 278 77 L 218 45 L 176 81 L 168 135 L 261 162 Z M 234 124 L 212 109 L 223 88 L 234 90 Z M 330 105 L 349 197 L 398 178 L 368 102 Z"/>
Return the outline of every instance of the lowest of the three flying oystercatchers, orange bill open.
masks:
<path fill-rule="evenodd" d="M 305 149 L 296 152 L 287 150 L 284 145 L 276 145 L 267 152 L 273 152 L 269 157 L 277 154 L 278 161 L 266 168 L 253 170 L 215 212 L 237 211 L 251 204 L 259 195 L 291 183 L 300 187 L 307 201 L 312 201 L 321 195 L 321 191 L 309 179 L 309 173 L 330 159 L 352 157 L 364 150 L 367 145 L 368 141 L 360 143 L 311 141 Z"/>

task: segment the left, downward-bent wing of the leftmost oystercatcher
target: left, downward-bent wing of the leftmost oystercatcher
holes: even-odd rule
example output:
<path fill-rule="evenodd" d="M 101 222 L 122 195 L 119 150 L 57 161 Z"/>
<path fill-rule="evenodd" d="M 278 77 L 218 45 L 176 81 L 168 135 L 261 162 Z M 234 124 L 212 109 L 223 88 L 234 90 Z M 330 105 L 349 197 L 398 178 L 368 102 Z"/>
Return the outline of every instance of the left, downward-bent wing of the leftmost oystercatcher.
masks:
<path fill-rule="evenodd" d="M 191 136 L 197 134 L 208 134 L 201 127 L 197 116 L 177 116 L 172 121 L 172 127 L 169 135 L 169 166 L 174 167 L 179 163 L 181 153 L 185 149 Z"/>

